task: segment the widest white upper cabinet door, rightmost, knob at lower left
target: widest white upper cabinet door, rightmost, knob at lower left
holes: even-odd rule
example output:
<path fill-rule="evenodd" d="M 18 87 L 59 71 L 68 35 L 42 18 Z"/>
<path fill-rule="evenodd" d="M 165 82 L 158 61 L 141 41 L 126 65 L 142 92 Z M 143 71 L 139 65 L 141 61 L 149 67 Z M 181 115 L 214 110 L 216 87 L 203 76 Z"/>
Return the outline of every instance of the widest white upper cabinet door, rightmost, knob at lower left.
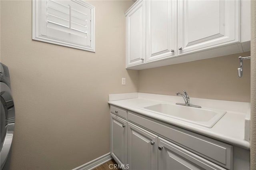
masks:
<path fill-rule="evenodd" d="M 240 41 L 240 1 L 179 0 L 178 55 Z"/>

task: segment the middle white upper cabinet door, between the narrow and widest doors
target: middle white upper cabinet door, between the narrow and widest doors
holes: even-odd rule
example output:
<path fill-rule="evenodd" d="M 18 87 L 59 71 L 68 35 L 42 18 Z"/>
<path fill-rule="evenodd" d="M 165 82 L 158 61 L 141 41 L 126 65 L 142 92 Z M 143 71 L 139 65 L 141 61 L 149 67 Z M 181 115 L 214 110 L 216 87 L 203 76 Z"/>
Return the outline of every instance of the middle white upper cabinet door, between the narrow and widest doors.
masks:
<path fill-rule="evenodd" d="M 146 62 L 177 56 L 177 1 L 146 2 Z"/>

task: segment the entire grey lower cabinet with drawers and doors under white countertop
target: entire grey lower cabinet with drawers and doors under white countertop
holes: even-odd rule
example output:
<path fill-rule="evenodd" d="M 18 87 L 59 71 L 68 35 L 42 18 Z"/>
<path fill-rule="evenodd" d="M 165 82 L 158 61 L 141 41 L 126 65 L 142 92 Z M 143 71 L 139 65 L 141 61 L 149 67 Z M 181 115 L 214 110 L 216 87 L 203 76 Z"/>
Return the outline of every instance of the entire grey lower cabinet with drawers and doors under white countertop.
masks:
<path fill-rule="evenodd" d="M 122 112 L 121 112 L 122 111 Z M 248 170 L 233 146 L 110 106 L 110 154 L 129 170 Z M 122 115 L 122 118 L 118 113 Z M 115 113 L 115 114 L 113 114 Z M 136 124 L 136 125 L 135 125 Z M 236 147 L 237 148 L 237 147 Z M 238 149 L 236 149 L 238 150 Z M 250 155 L 244 150 L 245 156 Z M 236 160 L 235 165 L 233 159 Z"/>

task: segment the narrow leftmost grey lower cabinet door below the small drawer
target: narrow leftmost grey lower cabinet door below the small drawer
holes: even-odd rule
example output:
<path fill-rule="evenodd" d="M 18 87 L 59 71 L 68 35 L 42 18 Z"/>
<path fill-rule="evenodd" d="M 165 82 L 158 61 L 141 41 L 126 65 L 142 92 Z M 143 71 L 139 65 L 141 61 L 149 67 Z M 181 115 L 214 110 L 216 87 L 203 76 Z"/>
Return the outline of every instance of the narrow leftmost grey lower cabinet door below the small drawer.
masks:
<path fill-rule="evenodd" d="M 110 154 L 124 168 L 127 162 L 127 121 L 110 114 Z"/>

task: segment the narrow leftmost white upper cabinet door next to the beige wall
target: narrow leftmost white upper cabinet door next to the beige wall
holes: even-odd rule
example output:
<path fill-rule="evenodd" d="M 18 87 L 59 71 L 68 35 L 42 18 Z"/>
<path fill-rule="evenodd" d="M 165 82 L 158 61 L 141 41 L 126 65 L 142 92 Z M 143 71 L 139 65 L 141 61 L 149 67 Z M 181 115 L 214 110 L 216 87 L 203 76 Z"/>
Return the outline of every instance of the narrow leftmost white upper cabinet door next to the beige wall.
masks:
<path fill-rule="evenodd" d="M 126 67 L 146 62 L 146 1 L 126 14 Z"/>

